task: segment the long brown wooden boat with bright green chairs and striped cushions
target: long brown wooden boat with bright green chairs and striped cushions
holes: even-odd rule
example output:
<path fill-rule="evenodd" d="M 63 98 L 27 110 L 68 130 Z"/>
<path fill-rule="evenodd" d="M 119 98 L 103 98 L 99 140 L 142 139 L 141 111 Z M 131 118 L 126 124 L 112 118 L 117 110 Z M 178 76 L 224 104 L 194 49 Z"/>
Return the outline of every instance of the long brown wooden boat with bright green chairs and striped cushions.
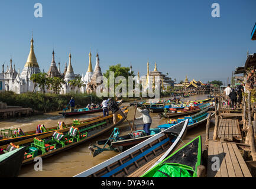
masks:
<path fill-rule="evenodd" d="M 124 110 L 125 115 L 128 109 Z M 118 126 L 125 118 L 118 115 L 119 120 L 113 124 L 113 115 L 105 116 L 101 119 L 85 122 L 71 128 L 60 129 L 54 133 L 47 133 L 37 138 L 25 139 L 23 141 L 15 142 L 14 145 L 27 146 L 24 161 L 22 164 L 29 164 L 34 162 L 35 157 L 47 158 L 51 155 L 73 148 L 84 142 L 108 132 L 110 129 Z M 0 146 L 6 149 L 8 145 Z"/>

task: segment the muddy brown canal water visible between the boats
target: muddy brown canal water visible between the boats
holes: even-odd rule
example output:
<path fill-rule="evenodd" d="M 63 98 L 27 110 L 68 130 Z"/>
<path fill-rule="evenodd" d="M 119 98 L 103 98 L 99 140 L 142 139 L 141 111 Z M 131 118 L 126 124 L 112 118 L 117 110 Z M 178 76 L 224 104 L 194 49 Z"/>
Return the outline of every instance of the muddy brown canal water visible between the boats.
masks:
<path fill-rule="evenodd" d="M 196 95 L 190 96 L 188 98 L 182 98 L 183 101 L 187 100 L 203 100 L 206 99 L 207 95 Z M 132 123 L 132 119 L 134 117 L 134 107 L 129 107 L 129 103 L 123 103 L 122 105 L 127 105 L 129 108 L 128 112 L 128 120 Z M 76 119 L 84 120 L 88 118 L 93 118 L 95 116 L 102 115 L 102 112 L 93 113 L 90 115 L 80 115 L 76 116 Z M 158 125 L 164 124 L 167 122 L 167 119 L 158 118 L 158 113 L 151 113 L 151 118 L 153 123 L 151 128 L 156 128 Z M 140 116 L 140 113 L 137 112 L 136 117 Z M 46 113 L 44 115 L 37 115 L 27 118 L 14 118 L 8 119 L 0 122 L 0 128 L 21 128 L 22 131 L 33 131 L 36 129 L 38 124 L 44 124 L 46 128 L 50 128 L 53 126 L 57 127 L 58 121 L 63 121 L 65 123 L 71 123 L 74 118 L 63 118 L 62 115 L 59 115 L 58 112 Z M 213 119 L 212 119 L 213 121 Z M 142 120 L 135 120 L 134 124 L 137 126 L 137 129 L 142 129 L 143 122 Z M 214 123 L 211 123 L 210 126 L 210 136 L 213 133 Z M 125 120 L 121 126 L 118 127 L 120 131 L 120 135 L 124 135 L 129 133 L 131 128 L 129 127 L 128 122 Z M 187 131 L 186 137 L 184 138 L 184 142 L 187 143 L 191 141 L 198 135 L 202 136 L 202 148 L 205 149 L 205 131 L 206 131 L 206 123 L 198 126 L 197 128 L 191 129 Z M 98 165 L 99 163 L 106 161 L 109 158 L 114 157 L 119 154 L 119 152 L 114 151 L 105 151 L 96 157 L 92 157 L 89 155 L 89 145 L 96 144 L 96 141 L 101 139 L 106 139 L 109 137 L 112 131 L 105 133 L 102 136 L 99 136 L 92 141 L 86 142 L 85 144 L 81 144 L 67 151 L 63 151 L 60 154 L 53 155 L 52 157 L 48 157 L 43 159 L 43 171 L 35 171 L 34 164 L 23 165 L 21 167 L 19 177 L 72 177 L 82 171 L 88 170 L 89 168 Z M 180 147 L 183 146 L 181 142 Z"/>

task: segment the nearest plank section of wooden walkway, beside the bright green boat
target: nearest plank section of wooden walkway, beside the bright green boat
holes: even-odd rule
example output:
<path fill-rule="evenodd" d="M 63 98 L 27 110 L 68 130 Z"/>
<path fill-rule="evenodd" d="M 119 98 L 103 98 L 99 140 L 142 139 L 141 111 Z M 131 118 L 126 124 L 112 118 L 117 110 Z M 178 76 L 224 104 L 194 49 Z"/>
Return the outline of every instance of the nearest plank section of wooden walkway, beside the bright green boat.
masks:
<path fill-rule="evenodd" d="M 216 157 L 220 166 L 213 171 Z M 231 142 L 209 141 L 207 170 L 207 177 L 252 177 L 238 147 Z"/>

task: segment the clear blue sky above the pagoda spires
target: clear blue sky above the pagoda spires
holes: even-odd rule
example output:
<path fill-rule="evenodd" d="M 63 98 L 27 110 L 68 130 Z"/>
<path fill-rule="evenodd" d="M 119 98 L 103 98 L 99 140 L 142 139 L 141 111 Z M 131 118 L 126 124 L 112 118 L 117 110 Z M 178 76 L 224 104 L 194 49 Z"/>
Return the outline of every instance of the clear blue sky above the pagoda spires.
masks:
<path fill-rule="evenodd" d="M 41 3 L 43 17 L 35 18 L 34 5 Z M 213 18 L 213 3 L 220 17 Z M 244 66 L 247 50 L 256 53 L 250 40 L 256 22 L 255 0 L 0 0 L 0 64 L 22 71 L 34 51 L 41 71 L 47 72 L 54 48 L 61 71 L 72 54 L 75 74 L 88 69 L 89 51 L 93 69 L 96 53 L 105 73 L 120 63 L 140 76 L 157 63 L 158 71 L 177 82 L 184 80 L 229 81 L 238 66 Z"/>

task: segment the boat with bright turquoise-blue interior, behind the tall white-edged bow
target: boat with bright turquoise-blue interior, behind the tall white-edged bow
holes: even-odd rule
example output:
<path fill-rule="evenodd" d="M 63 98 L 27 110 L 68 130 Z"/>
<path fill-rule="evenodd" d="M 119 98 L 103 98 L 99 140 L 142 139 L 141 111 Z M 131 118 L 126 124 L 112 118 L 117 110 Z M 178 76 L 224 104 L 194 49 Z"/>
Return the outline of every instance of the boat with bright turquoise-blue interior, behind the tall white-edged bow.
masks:
<path fill-rule="evenodd" d="M 160 128 L 160 129 L 167 129 L 167 128 L 170 128 L 170 126 L 176 125 L 177 123 L 188 119 L 189 120 L 188 125 L 187 125 L 188 129 L 195 128 L 196 126 L 198 126 L 202 123 L 205 123 L 207 121 L 207 118 L 209 116 L 209 113 L 208 113 L 209 108 L 210 107 L 208 107 L 205 110 L 202 110 L 199 113 L 196 113 L 193 116 L 184 116 L 184 118 L 171 119 L 170 121 L 168 121 L 168 123 L 163 124 L 163 125 L 159 125 L 157 127 Z M 215 115 L 215 112 L 212 112 L 211 116 L 214 116 L 214 115 Z"/>

